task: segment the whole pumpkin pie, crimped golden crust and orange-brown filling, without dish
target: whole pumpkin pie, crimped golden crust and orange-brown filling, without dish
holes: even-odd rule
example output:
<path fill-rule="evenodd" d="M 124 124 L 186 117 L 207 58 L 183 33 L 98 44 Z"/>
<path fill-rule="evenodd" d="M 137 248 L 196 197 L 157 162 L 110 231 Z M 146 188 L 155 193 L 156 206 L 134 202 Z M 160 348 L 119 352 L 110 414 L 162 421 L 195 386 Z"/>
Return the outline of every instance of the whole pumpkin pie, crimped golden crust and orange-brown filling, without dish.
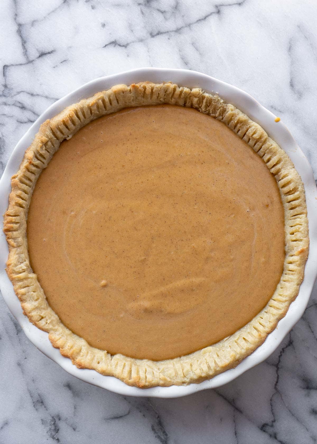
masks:
<path fill-rule="evenodd" d="M 285 152 L 173 83 L 117 85 L 45 122 L 4 230 L 30 321 L 78 367 L 138 387 L 238 365 L 297 296 L 308 254 Z"/>

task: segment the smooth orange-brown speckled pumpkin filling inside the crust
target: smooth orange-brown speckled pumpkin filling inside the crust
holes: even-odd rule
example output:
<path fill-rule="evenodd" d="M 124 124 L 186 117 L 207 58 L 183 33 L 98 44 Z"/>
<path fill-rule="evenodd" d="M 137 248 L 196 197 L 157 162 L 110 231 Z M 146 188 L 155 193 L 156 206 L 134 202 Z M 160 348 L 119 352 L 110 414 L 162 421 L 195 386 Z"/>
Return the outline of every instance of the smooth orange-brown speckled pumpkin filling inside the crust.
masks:
<path fill-rule="evenodd" d="M 126 108 L 61 143 L 28 213 L 31 266 L 72 332 L 154 361 L 236 332 L 272 297 L 284 210 L 263 160 L 192 108 Z"/>

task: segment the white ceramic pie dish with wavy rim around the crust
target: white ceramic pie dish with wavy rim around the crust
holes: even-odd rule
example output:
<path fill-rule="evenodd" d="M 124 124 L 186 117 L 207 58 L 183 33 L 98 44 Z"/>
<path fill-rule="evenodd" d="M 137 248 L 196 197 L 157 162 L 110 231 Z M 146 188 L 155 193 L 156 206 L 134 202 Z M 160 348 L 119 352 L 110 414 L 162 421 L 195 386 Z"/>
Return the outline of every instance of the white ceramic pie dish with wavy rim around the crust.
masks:
<path fill-rule="evenodd" d="M 101 77 L 86 83 L 62 99 L 53 103 L 37 120 L 32 127 L 22 137 L 16 145 L 4 174 L 0 179 L 0 214 L 4 214 L 8 207 L 8 195 L 11 191 L 11 176 L 19 169 L 24 156 L 24 151 L 31 144 L 41 123 L 54 117 L 65 107 L 79 100 L 90 97 L 96 92 L 107 90 L 118 83 L 138 83 L 150 80 L 154 83 L 162 81 L 172 81 L 180 86 L 189 88 L 200 87 L 210 93 L 218 93 L 226 102 L 232 103 L 238 109 L 245 112 L 252 120 L 258 122 L 269 136 L 275 140 L 281 148 L 292 159 L 296 170 L 301 175 L 305 186 L 308 221 L 309 221 L 309 255 L 305 265 L 305 277 L 301 284 L 299 293 L 295 301 L 289 307 L 286 316 L 278 322 L 272 333 L 268 335 L 265 342 L 258 347 L 250 356 L 246 357 L 235 369 L 227 370 L 216 377 L 204 381 L 200 384 L 190 384 L 187 386 L 153 387 L 150 389 L 139 389 L 130 387 L 115 377 L 103 376 L 95 370 L 77 369 L 72 365 L 71 360 L 63 357 L 58 349 L 54 349 L 48 339 L 48 333 L 41 331 L 28 321 L 28 317 L 22 313 L 20 301 L 14 293 L 13 286 L 5 272 L 5 263 L 8 258 L 8 245 L 3 233 L 3 219 L 0 218 L 0 290 L 11 313 L 21 325 L 24 333 L 32 343 L 46 356 L 59 364 L 71 375 L 112 392 L 131 396 L 158 396 L 162 398 L 172 398 L 189 395 L 200 390 L 219 387 L 232 381 L 248 369 L 264 361 L 277 346 L 281 343 L 285 335 L 292 329 L 293 325 L 300 319 L 309 300 L 313 284 L 317 276 L 317 190 L 313 177 L 313 171 L 301 149 L 289 133 L 282 122 L 275 123 L 275 115 L 262 107 L 253 97 L 246 92 L 214 79 L 200 72 L 188 71 L 184 69 L 159 69 L 141 68 L 132 71 L 122 72 L 115 75 Z"/>

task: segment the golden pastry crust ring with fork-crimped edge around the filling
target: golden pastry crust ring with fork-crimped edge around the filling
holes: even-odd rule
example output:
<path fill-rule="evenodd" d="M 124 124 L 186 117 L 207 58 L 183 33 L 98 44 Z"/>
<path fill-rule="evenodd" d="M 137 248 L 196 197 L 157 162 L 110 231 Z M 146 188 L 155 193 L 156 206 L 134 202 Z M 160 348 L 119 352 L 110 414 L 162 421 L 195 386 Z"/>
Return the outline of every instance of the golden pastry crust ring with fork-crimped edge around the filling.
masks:
<path fill-rule="evenodd" d="M 63 139 L 102 115 L 129 106 L 169 103 L 194 107 L 224 122 L 262 157 L 275 176 L 285 210 L 285 262 L 277 288 L 265 308 L 238 332 L 217 344 L 190 355 L 166 360 L 136 360 L 111 356 L 95 349 L 67 329 L 48 305 L 33 273 L 26 238 L 26 219 L 32 191 Z M 190 90 L 173 83 L 116 85 L 64 109 L 44 122 L 26 151 L 20 169 L 12 177 L 12 192 L 4 215 L 4 232 L 9 245 L 7 273 L 24 313 L 38 328 L 49 333 L 52 345 L 79 368 L 94 369 L 115 376 L 128 385 L 147 388 L 156 385 L 199 383 L 238 365 L 252 353 L 285 316 L 298 294 L 308 255 L 308 220 L 304 187 L 286 153 L 257 123 L 217 95 L 199 88 Z M 269 279 L 269 276 L 268 276 Z"/>

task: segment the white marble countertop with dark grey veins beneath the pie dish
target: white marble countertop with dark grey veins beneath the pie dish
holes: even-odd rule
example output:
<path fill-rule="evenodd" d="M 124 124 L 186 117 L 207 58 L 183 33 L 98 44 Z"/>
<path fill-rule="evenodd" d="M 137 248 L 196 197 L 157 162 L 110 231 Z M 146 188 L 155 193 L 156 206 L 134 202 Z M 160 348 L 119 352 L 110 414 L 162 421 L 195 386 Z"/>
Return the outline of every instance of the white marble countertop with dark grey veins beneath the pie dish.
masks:
<path fill-rule="evenodd" d="M 2 0 L 0 173 L 31 123 L 99 76 L 142 66 L 205 72 L 289 127 L 317 178 L 314 0 Z M 0 298 L 0 443 L 317 442 L 317 285 L 266 362 L 216 390 L 124 397 L 68 375 Z"/>

